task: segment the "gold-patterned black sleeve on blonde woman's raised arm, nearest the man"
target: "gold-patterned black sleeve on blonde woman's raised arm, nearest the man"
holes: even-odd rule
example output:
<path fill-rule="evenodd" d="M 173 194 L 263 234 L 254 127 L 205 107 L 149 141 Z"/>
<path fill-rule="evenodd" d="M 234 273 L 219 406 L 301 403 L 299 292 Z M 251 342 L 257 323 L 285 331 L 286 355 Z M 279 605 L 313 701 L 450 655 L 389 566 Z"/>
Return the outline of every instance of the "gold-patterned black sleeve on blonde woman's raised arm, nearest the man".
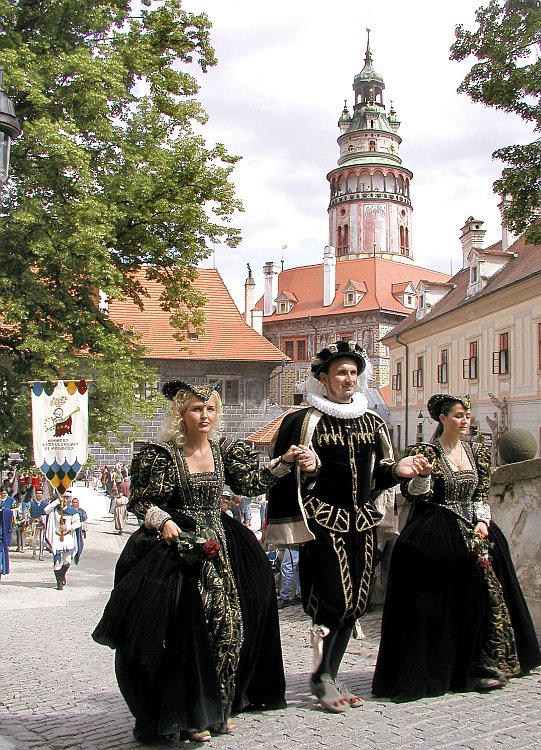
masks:
<path fill-rule="evenodd" d="M 274 458 L 266 467 L 260 467 L 259 455 L 245 440 L 235 440 L 222 448 L 225 481 L 233 492 L 245 497 L 255 497 L 266 492 L 292 465 Z"/>

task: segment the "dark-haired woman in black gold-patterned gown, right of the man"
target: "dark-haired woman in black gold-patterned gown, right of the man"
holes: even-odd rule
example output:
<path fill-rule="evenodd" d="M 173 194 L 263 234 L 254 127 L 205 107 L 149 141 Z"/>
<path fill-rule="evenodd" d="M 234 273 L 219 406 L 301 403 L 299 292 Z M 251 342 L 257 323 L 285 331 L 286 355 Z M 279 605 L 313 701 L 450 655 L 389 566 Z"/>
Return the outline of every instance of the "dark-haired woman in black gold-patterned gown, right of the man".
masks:
<path fill-rule="evenodd" d="M 426 476 L 390 563 L 373 693 L 397 701 L 500 688 L 541 663 L 507 541 L 490 519 L 490 451 L 470 443 L 468 398 L 437 394 Z"/>

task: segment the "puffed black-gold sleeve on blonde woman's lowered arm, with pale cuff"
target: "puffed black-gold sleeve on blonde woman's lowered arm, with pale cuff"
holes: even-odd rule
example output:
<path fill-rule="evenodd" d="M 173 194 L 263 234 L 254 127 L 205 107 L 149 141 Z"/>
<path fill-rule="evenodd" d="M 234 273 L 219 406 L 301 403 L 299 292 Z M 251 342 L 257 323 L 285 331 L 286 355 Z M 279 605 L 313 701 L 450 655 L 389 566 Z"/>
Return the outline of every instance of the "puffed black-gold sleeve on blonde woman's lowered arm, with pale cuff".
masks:
<path fill-rule="evenodd" d="M 175 484 L 175 469 L 167 451 L 145 446 L 132 461 L 128 510 L 143 518 L 147 528 L 159 531 L 171 517 L 160 506 L 169 504 Z"/>

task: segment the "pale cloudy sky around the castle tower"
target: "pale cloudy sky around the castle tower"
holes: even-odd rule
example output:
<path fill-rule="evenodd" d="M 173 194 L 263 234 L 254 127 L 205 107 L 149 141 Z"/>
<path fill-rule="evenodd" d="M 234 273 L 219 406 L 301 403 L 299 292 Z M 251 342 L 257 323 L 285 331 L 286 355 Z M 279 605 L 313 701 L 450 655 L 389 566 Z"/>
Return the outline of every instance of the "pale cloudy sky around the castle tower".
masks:
<path fill-rule="evenodd" d="M 492 183 L 502 164 L 492 152 L 534 135 L 517 115 L 457 93 L 474 61 L 449 60 L 455 26 L 475 29 L 481 4 L 488 0 L 185 0 L 185 10 L 209 16 L 218 58 L 197 74 L 209 115 L 202 132 L 209 145 L 223 143 L 242 157 L 232 177 L 245 209 L 232 222 L 242 242 L 235 249 L 217 244 L 202 266 L 220 271 L 241 312 L 247 263 L 259 296 L 265 262 L 322 262 L 326 175 L 337 166 L 344 100 L 353 109 L 367 28 L 386 110 L 392 101 L 401 121 L 402 163 L 413 172 L 416 265 L 456 273 L 469 216 L 484 221 L 485 246 L 501 238 Z"/>

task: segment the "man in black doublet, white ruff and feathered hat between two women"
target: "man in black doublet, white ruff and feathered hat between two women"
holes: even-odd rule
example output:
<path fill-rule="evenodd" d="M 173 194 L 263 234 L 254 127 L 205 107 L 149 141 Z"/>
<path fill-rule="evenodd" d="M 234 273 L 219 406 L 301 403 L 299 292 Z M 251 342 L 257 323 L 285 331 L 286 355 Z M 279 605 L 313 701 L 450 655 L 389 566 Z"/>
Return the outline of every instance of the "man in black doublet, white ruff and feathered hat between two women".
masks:
<path fill-rule="evenodd" d="M 309 408 L 285 417 L 274 446 L 275 456 L 285 446 L 305 446 L 305 456 L 269 491 L 266 539 L 302 545 L 302 600 L 313 622 L 310 686 L 334 712 L 362 703 L 336 677 L 368 601 L 382 518 L 374 500 L 398 476 L 416 473 L 411 460 L 395 463 L 385 422 L 356 390 L 358 380 L 366 386 L 366 368 L 355 342 L 339 341 L 319 352 L 307 382 Z"/>

